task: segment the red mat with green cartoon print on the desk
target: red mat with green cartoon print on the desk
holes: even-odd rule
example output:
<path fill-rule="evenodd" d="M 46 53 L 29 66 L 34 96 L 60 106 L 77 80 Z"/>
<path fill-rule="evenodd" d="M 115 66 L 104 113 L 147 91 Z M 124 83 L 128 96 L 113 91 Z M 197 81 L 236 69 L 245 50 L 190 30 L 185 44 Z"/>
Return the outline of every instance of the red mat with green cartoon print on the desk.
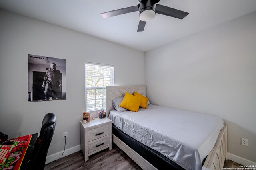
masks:
<path fill-rule="evenodd" d="M 2 147 L 3 149 L 5 149 L 5 153 L 6 153 L 6 149 L 9 148 L 9 150 L 8 150 L 8 153 L 4 156 L 3 161 L 2 159 L 0 160 L 0 170 L 19 170 L 20 169 L 20 165 L 22 164 L 22 160 L 24 158 L 26 150 L 28 149 L 28 145 L 30 143 L 31 137 L 32 135 L 26 135 L 23 137 L 13 138 L 8 140 L 8 141 L 13 141 L 14 142 L 13 145 L 8 145 L 8 147 L 1 146 L 1 149 Z"/>

